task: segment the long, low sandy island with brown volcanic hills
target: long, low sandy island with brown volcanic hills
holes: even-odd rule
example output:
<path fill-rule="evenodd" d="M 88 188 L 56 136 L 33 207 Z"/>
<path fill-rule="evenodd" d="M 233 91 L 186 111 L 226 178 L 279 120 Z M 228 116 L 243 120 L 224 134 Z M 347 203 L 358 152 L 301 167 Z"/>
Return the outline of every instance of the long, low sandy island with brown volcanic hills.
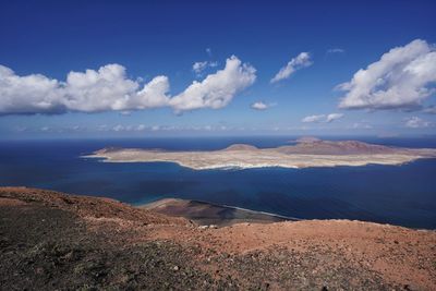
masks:
<path fill-rule="evenodd" d="M 402 165 L 436 157 L 436 148 L 403 148 L 358 141 L 298 140 L 294 145 L 257 148 L 234 144 L 219 150 L 164 150 L 143 148 L 99 149 L 85 158 L 107 162 L 175 162 L 195 170 L 250 169 L 264 167 L 310 168 L 366 165 Z"/>

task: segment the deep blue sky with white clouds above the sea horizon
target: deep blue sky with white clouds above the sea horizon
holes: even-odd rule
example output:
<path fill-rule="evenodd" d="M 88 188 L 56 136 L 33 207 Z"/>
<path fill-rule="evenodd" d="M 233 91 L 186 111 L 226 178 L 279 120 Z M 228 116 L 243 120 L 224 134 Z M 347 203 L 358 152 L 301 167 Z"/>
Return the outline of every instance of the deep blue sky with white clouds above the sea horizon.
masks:
<path fill-rule="evenodd" d="M 0 138 L 436 133 L 435 1 L 0 11 Z"/>

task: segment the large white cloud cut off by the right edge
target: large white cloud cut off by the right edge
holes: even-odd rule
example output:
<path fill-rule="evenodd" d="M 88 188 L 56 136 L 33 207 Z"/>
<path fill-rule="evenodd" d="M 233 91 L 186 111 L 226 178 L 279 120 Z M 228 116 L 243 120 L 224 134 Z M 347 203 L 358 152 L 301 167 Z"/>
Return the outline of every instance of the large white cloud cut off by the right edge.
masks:
<path fill-rule="evenodd" d="M 359 70 L 350 82 L 340 84 L 338 88 L 347 94 L 339 107 L 413 110 L 435 93 L 435 46 L 415 39 L 389 50 Z"/>

